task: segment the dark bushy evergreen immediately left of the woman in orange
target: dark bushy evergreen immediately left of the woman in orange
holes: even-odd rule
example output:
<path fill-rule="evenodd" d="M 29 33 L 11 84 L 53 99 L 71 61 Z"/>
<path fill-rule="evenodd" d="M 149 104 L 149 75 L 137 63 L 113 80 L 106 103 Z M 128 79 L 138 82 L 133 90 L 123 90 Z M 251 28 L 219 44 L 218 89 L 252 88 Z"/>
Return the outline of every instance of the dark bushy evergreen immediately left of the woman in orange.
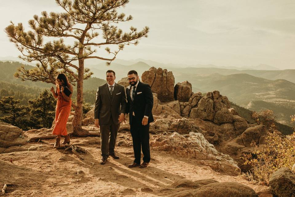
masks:
<path fill-rule="evenodd" d="M 38 98 L 30 99 L 29 116 L 32 127 L 50 128 L 55 116 L 56 100 L 47 90 L 40 93 Z"/>

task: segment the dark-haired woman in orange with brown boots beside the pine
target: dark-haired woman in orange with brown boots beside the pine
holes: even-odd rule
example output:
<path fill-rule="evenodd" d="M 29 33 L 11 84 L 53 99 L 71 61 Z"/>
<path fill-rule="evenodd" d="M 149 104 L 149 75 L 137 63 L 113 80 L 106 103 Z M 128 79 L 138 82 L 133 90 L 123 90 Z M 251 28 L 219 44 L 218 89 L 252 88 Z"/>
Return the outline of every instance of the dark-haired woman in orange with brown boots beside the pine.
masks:
<path fill-rule="evenodd" d="M 70 143 L 70 136 L 67 133 L 67 121 L 71 112 L 72 106 L 72 94 L 73 86 L 68 82 L 65 74 L 58 74 L 56 77 L 56 91 L 51 87 L 50 91 L 52 92 L 54 98 L 57 98 L 56 111 L 55 111 L 55 125 L 52 131 L 53 135 L 57 135 L 54 148 L 60 147 L 60 144 Z M 65 88 L 69 88 L 70 94 L 67 96 L 65 94 Z M 65 137 L 63 143 L 61 141 L 61 135 Z"/>

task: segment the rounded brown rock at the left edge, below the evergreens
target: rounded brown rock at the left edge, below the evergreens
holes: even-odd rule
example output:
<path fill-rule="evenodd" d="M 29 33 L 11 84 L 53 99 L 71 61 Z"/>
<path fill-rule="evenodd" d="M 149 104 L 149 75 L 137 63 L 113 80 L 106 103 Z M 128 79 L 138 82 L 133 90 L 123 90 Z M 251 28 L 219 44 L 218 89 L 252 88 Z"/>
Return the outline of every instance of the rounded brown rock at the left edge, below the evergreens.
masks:
<path fill-rule="evenodd" d="M 0 147 L 8 148 L 26 143 L 28 137 L 23 131 L 8 123 L 0 123 Z"/>

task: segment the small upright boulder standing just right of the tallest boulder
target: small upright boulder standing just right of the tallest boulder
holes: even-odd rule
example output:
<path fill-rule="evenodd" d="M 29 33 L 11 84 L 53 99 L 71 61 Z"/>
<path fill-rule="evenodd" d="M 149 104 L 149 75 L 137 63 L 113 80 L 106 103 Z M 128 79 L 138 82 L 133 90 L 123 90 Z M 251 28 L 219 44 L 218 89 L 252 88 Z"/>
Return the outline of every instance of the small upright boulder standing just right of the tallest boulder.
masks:
<path fill-rule="evenodd" d="M 191 98 L 191 83 L 188 81 L 177 83 L 174 87 L 174 99 L 187 102 Z"/>

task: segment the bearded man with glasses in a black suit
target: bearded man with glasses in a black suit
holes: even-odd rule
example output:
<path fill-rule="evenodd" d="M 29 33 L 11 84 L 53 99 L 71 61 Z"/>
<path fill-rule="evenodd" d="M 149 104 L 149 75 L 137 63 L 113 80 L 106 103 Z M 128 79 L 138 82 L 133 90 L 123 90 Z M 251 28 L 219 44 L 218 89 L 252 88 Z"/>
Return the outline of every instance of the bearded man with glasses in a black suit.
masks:
<path fill-rule="evenodd" d="M 150 123 L 154 121 L 151 110 L 154 99 L 151 87 L 139 81 L 135 70 L 128 72 L 130 86 L 126 88 L 127 107 L 126 114 L 129 113 L 130 132 L 132 135 L 134 161 L 128 167 L 147 167 L 151 160 L 150 155 Z M 143 163 L 140 164 L 141 149 L 144 155 Z"/>

